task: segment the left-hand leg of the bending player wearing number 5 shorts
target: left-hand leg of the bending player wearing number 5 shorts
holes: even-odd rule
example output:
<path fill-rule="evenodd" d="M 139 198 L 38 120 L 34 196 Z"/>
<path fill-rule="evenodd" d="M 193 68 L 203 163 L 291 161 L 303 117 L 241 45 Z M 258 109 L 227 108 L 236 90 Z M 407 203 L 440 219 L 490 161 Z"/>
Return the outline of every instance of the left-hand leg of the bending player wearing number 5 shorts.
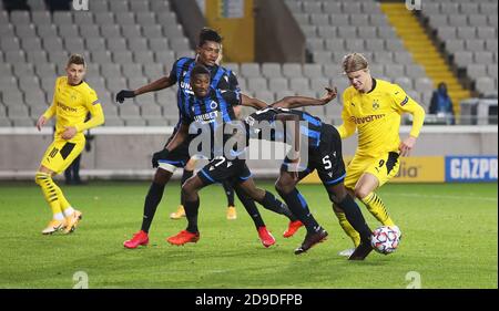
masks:
<path fill-rule="evenodd" d="M 286 166 L 283 164 L 281 167 L 279 177 L 275 184 L 275 188 L 286 205 L 289 207 L 293 215 L 295 215 L 302 224 L 305 225 L 307 234 L 302 245 L 295 250 L 296 255 L 303 253 L 310 249 L 316 243 L 323 241 L 327 237 L 327 231 L 320 227 L 315 220 L 308 205 L 302 194 L 296 189 L 296 179 L 294 173 L 287 172 Z"/>

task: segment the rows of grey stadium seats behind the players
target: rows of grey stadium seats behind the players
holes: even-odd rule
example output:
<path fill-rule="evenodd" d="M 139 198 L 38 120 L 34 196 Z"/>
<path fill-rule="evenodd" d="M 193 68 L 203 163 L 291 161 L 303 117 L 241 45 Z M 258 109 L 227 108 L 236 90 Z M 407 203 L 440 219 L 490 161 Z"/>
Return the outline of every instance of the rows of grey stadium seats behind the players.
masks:
<path fill-rule="evenodd" d="M 237 73 L 244 92 L 267 102 L 293 94 L 320 96 L 328 84 L 343 92 L 348 82 L 342 75 L 342 58 L 357 51 L 370 60 L 375 76 L 400 84 L 428 108 L 438 75 L 407 48 L 384 4 L 373 0 L 284 2 L 306 37 L 308 62 L 224 63 Z M 415 15 L 459 79 L 458 86 L 477 96 L 497 96 L 497 2 L 427 2 Z M 113 100 L 119 90 L 159 79 L 176 58 L 194 54 L 169 1 L 92 0 L 89 11 L 51 10 L 44 0 L 26 3 L 0 7 L 0 126 L 34 125 L 51 101 L 54 79 L 64 73 L 70 53 L 88 58 L 86 80 L 102 99 L 106 126 L 176 122 L 177 112 L 170 108 L 175 87 L 123 106 Z M 333 104 L 314 113 L 337 123 L 340 110 Z"/>

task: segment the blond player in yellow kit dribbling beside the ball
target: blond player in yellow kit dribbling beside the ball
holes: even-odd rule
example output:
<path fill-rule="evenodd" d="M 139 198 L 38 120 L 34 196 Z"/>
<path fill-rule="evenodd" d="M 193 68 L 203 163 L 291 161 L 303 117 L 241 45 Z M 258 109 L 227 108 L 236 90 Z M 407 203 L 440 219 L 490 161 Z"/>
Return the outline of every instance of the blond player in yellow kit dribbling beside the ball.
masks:
<path fill-rule="evenodd" d="M 347 167 L 345 186 L 384 226 L 399 230 L 374 191 L 397 175 L 398 157 L 409 155 L 414 148 L 425 120 L 425 110 L 397 84 L 373 79 L 364 55 L 346 55 L 343 69 L 350 86 L 343 93 L 343 124 L 338 132 L 342 138 L 353 135 L 356 129 L 358 132 L 358 146 Z M 413 128 L 409 137 L 400 142 L 400 117 L 404 113 L 413 115 Z M 339 207 L 334 206 L 334 210 L 342 228 L 357 247 L 359 234 L 348 224 Z M 344 250 L 339 255 L 350 256 L 353 250 Z"/>

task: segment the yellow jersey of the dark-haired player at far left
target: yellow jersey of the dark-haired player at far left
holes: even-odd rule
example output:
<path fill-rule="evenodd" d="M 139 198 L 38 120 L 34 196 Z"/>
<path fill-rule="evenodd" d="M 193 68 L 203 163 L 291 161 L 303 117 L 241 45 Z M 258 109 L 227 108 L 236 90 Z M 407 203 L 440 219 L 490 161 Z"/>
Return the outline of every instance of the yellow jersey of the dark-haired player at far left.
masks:
<path fill-rule="evenodd" d="M 89 112 L 92 118 L 85 122 Z M 95 91 L 84 81 L 79 85 L 70 85 L 67 76 L 55 80 L 52 105 L 43 114 L 45 118 L 54 115 L 57 117 L 54 136 L 60 136 L 64 132 L 64 126 L 74 126 L 78 131 L 77 136 L 83 135 L 83 131 L 104 122 L 104 113 Z"/>

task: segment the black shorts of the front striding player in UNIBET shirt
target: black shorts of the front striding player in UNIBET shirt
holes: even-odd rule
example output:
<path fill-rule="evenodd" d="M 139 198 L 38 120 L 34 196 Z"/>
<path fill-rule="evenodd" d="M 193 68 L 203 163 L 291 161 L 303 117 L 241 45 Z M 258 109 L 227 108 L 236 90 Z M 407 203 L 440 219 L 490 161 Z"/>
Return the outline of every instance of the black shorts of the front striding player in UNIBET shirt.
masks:
<path fill-rule="evenodd" d="M 205 185 L 223 183 L 228 180 L 231 184 L 238 184 L 252 177 L 252 173 L 246 165 L 245 159 L 226 159 L 223 156 L 215 157 L 206 164 L 197 176 Z"/>

